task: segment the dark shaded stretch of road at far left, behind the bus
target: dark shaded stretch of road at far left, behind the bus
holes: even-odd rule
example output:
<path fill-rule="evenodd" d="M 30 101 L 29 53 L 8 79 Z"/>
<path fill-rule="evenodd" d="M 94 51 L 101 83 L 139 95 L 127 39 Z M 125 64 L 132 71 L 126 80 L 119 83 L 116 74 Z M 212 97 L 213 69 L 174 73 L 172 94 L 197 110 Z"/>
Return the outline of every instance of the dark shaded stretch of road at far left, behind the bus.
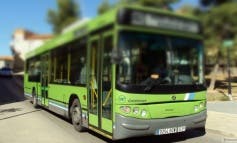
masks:
<path fill-rule="evenodd" d="M 0 105 L 25 100 L 23 77 L 0 77 Z"/>

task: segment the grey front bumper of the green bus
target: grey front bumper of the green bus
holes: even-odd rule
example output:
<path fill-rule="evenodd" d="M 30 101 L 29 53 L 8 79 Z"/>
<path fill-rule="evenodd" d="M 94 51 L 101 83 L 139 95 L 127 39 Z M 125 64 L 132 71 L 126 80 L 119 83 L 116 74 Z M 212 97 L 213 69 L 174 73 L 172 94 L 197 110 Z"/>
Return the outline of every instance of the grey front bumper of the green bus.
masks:
<path fill-rule="evenodd" d="M 120 114 L 116 114 L 113 139 L 118 140 L 136 136 L 159 135 L 160 129 L 173 129 L 176 127 L 184 127 L 185 130 L 203 128 L 206 124 L 206 118 L 206 110 L 183 117 L 152 120 L 124 117 Z"/>

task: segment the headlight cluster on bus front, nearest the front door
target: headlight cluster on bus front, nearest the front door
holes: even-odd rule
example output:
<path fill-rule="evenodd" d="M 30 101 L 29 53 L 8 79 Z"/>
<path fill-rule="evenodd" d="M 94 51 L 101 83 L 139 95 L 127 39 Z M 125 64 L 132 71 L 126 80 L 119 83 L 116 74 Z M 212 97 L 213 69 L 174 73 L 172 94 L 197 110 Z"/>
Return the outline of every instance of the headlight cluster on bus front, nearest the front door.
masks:
<path fill-rule="evenodd" d="M 139 107 L 120 106 L 120 110 L 125 114 L 133 114 L 135 116 L 147 117 L 148 112 L 145 109 L 139 109 Z"/>

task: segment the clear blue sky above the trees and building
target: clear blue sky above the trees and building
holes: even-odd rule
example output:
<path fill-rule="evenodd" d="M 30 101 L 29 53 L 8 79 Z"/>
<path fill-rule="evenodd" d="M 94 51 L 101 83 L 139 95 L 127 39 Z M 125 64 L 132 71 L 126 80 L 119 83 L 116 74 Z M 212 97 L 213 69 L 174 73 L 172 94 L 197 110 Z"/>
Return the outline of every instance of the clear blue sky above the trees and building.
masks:
<path fill-rule="evenodd" d="M 81 15 L 93 18 L 102 0 L 76 0 L 80 4 Z M 117 0 L 110 0 L 111 3 Z M 180 0 L 174 9 L 184 4 L 197 6 L 199 0 Z M 56 8 L 56 0 L 5 0 L 0 4 L 0 56 L 11 55 L 10 42 L 17 28 L 24 28 L 39 34 L 52 33 L 47 22 L 48 9 Z"/>

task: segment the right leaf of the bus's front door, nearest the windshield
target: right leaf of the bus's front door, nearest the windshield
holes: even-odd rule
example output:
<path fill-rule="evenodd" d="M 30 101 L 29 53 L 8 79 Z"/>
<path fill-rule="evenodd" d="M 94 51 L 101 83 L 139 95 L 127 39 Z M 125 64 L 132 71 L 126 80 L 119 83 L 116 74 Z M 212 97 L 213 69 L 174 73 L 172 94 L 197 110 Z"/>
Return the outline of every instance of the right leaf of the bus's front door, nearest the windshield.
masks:
<path fill-rule="evenodd" d="M 113 49 L 112 32 L 106 32 L 102 36 L 101 57 L 101 129 L 112 133 L 112 65 L 111 52 Z"/>

